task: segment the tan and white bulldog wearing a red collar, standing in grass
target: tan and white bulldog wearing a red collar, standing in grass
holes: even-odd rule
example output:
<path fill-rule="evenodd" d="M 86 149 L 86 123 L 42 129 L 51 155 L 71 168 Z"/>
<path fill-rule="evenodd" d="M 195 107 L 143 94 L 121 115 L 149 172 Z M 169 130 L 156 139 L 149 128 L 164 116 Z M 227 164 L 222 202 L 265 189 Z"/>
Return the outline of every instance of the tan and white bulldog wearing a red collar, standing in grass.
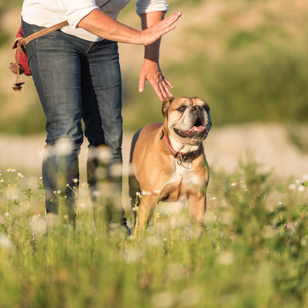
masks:
<path fill-rule="evenodd" d="M 209 106 L 198 97 L 166 98 L 162 114 L 164 123 L 147 124 L 132 138 L 132 206 L 142 191 L 138 215 L 134 212 L 135 235 L 145 229 L 159 201 L 188 200 L 189 213 L 200 224 L 206 210 L 209 168 L 203 141 L 211 127 Z"/>

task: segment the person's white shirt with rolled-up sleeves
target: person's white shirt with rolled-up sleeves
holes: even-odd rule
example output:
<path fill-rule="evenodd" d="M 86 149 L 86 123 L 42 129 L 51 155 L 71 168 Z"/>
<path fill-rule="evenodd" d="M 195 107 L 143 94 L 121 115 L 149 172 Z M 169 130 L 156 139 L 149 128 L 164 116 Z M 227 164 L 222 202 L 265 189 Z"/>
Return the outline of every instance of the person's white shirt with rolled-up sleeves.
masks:
<path fill-rule="evenodd" d="M 77 25 L 83 17 L 106 2 L 107 0 L 24 0 L 22 18 L 28 24 L 42 27 L 50 27 L 67 20 L 69 26 L 62 28 L 63 32 L 96 42 L 103 38 L 78 28 Z M 119 12 L 129 2 L 130 0 L 110 0 L 101 10 L 116 20 Z M 138 0 L 136 6 L 139 15 L 169 9 L 166 0 Z"/>

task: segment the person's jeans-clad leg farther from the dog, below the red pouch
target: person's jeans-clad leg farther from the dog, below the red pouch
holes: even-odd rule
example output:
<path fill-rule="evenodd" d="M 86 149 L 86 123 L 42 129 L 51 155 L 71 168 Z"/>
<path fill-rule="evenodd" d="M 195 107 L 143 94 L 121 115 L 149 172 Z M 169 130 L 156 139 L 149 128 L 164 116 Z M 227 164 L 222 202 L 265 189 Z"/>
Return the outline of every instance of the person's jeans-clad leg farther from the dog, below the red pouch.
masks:
<path fill-rule="evenodd" d="M 42 29 L 22 23 L 24 35 Z M 81 128 L 81 65 L 71 36 L 55 31 L 26 46 L 29 67 L 46 115 L 46 147 L 43 183 L 47 213 L 58 213 L 59 197 L 71 205 L 64 208 L 73 217 L 73 179 L 79 178 L 78 155 L 83 142 Z M 56 192 L 54 194 L 54 191 Z M 60 192 L 61 191 L 61 192 Z M 62 199 L 63 198 L 63 199 Z"/>

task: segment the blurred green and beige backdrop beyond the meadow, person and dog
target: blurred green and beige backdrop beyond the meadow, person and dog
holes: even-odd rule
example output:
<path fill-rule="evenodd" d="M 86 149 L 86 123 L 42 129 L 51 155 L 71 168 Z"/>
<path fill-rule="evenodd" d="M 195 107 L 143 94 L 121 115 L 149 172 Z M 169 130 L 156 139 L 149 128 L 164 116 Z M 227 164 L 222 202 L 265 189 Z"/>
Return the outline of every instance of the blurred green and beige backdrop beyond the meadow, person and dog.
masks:
<path fill-rule="evenodd" d="M 182 11 L 162 38 L 160 66 L 174 96 L 199 96 L 211 108 L 205 142 L 212 170 L 233 172 L 252 153 L 274 177 L 308 173 L 308 3 L 306 0 L 169 0 Z M 40 174 L 45 117 L 32 82 L 11 89 L 10 62 L 22 1 L 0 0 L 0 169 Z M 134 1 L 118 20 L 140 28 Z M 163 121 L 149 84 L 138 92 L 143 47 L 120 44 L 124 162 L 132 133 Z M 86 157 L 86 141 L 81 153 Z M 82 165 L 82 169 L 85 165 Z"/>

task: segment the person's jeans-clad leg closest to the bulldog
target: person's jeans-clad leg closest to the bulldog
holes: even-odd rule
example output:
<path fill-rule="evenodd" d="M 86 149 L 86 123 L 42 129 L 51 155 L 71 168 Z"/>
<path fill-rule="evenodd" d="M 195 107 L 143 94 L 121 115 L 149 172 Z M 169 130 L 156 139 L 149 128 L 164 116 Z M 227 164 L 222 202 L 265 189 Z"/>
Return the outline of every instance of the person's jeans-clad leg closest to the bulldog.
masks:
<path fill-rule="evenodd" d="M 126 223 L 122 207 L 121 86 L 118 44 L 107 40 L 93 44 L 82 60 L 88 183 L 107 202 L 107 219 L 113 226 Z"/>

